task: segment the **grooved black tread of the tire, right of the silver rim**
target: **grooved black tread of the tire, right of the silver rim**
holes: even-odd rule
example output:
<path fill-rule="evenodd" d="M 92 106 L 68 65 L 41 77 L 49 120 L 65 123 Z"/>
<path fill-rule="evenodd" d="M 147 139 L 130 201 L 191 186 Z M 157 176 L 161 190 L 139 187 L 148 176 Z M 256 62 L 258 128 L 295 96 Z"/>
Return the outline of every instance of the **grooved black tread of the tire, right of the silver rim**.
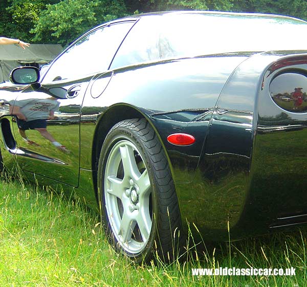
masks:
<path fill-rule="evenodd" d="M 177 253 L 183 240 L 182 236 L 174 238 L 174 231 L 181 230 L 182 224 L 176 189 L 163 146 L 155 130 L 144 118 L 118 122 L 111 128 L 108 135 L 118 128 L 131 131 L 136 136 L 135 138 L 141 142 L 141 146 L 146 148 L 144 152 L 149 155 L 158 193 L 157 230 L 159 242 L 156 242 L 157 252 L 163 260 L 168 261 L 168 257 L 173 260 L 178 256 Z M 181 231 L 180 234 L 182 235 Z"/>

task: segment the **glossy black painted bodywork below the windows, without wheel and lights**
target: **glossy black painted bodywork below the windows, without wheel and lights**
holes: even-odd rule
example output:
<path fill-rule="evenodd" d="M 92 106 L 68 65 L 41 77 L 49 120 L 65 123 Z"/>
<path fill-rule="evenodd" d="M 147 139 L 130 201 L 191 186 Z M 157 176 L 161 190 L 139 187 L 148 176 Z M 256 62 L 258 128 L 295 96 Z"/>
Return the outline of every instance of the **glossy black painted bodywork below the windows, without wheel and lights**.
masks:
<path fill-rule="evenodd" d="M 18 161 L 31 180 L 74 188 L 98 211 L 97 165 L 106 134 L 123 119 L 145 118 L 168 157 L 186 228 L 194 223 L 203 238 L 228 240 L 228 226 L 238 239 L 307 222 L 307 113 L 287 111 L 270 92 L 274 79 L 289 71 L 305 80 L 306 53 L 167 59 L 78 80 L 1 87 L 0 98 L 11 106 L 55 98 L 59 111 L 48 130 L 70 151 L 56 149 L 36 130 L 27 134 L 37 145 L 25 142 L 7 107 L 3 162 L 12 168 Z M 294 88 L 289 81 L 284 93 Z M 195 143 L 172 145 L 167 137 L 174 133 L 192 135 Z"/>

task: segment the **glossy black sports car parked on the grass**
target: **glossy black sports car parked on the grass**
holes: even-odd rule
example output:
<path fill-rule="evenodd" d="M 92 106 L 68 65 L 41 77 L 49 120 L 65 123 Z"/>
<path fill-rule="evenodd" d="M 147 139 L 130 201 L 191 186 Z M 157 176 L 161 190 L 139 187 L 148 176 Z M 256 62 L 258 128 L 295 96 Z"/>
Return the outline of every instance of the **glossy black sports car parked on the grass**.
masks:
<path fill-rule="evenodd" d="M 0 89 L 1 154 L 74 189 L 128 257 L 307 222 L 307 23 L 161 12 L 103 24 Z M 229 233 L 228 233 L 229 229 Z M 176 254 L 175 254 L 176 255 Z"/>

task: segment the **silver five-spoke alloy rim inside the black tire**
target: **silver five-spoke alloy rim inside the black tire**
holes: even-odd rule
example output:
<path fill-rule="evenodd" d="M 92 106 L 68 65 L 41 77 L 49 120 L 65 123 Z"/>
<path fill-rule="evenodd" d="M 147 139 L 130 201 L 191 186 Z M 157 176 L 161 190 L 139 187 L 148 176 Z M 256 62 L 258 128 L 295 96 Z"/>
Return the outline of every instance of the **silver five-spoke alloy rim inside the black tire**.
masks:
<path fill-rule="evenodd" d="M 114 144 L 105 166 L 107 216 L 119 245 L 132 254 L 146 246 L 152 228 L 151 188 L 142 154 L 131 141 Z"/>

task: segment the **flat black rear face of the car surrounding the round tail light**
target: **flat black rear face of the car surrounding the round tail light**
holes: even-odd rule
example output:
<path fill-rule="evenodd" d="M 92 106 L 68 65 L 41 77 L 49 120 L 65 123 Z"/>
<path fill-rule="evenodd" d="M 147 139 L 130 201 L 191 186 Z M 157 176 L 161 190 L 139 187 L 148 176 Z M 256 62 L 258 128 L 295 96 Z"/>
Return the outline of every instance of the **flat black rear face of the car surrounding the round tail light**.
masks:
<path fill-rule="evenodd" d="M 289 72 L 304 75 L 300 84 L 306 93 L 307 56 L 289 55 L 267 69 L 257 101 L 250 207 L 245 220 L 253 218 L 256 227 L 270 230 L 307 222 L 307 113 L 297 111 L 293 99 L 287 103 L 291 111 L 286 111 L 270 94 L 272 80 Z M 284 93 L 292 94 L 297 84 L 283 83 Z"/>

